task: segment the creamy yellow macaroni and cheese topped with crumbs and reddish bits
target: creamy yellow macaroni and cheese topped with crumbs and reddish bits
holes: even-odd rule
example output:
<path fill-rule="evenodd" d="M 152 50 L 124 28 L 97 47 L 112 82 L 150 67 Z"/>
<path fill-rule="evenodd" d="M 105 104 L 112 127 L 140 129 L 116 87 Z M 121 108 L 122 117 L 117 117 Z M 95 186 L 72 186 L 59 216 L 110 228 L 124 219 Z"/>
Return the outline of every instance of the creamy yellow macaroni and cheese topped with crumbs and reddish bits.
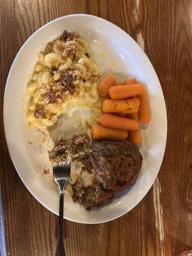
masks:
<path fill-rule="evenodd" d="M 72 108 L 81 107 L 90 110 L 85 119 L 92 125 L 102 109 L 97 93 L 100 76 L 84 39 L 64 31 L 38 55 L 27 88 L 29 124 L 46 128 L 56 124 L 63 111 L 69 116 Z"/>

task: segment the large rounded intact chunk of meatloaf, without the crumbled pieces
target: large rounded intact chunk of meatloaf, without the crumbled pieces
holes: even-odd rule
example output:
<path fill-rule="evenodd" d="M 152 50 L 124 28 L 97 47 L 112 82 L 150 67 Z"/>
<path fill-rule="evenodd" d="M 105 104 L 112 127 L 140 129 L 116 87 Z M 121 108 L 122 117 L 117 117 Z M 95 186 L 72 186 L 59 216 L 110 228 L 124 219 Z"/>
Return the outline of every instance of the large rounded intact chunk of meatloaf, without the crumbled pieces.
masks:
<path fill-rule="evenodd" d="M 136 181 L 142 156 L 128 141 L 93 141 L 90 162 L 104 189 L 120 191 Z"/>

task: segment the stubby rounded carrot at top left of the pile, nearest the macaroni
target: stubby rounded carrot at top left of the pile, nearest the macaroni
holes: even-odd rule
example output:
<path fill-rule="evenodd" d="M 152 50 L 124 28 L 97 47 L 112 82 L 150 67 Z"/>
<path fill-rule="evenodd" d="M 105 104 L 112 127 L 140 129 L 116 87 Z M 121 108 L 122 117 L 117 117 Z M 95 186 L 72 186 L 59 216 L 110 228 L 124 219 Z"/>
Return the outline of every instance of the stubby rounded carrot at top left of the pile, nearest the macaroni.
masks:
<path fill-rule="evenodd" d="M 116 86 L 116 78 L 113 74 L 106 74 L 100 80 L 100 83 L 97 86 L 97 92 L 100 96 L 106 96 L 109 93 L 109 88 L 111 86 Z"/>

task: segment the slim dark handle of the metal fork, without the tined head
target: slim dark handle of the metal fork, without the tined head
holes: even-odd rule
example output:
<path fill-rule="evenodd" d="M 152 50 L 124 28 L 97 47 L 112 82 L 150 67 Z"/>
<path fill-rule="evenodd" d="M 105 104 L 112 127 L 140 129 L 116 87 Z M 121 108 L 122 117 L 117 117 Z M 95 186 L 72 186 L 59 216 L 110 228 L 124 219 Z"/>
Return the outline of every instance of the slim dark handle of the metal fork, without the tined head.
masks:
<path fill-rule="evenodd" d="M 57 244 L 55 256 L 65 256 L 65 248 L 63 243 L 63 199 L 64 199 L 63 189 L 60 188 L 59 234 L 58 234 L 58 244 Z"/>

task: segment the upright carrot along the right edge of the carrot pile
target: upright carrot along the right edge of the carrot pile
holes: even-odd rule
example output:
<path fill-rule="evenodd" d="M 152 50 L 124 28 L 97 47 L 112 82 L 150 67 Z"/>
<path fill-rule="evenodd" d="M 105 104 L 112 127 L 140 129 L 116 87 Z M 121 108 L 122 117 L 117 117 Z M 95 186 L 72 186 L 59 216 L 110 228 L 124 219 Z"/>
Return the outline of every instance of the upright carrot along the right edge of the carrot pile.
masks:
<path fill-rule="evenodd" d="M 148 106 L 148 93 L 145 90 L 143 93 L 138 95 L 140 99 L 140 109 L 139 109 L 139 118 L 142 123 L 150 122 L 150 109 Z"/>

